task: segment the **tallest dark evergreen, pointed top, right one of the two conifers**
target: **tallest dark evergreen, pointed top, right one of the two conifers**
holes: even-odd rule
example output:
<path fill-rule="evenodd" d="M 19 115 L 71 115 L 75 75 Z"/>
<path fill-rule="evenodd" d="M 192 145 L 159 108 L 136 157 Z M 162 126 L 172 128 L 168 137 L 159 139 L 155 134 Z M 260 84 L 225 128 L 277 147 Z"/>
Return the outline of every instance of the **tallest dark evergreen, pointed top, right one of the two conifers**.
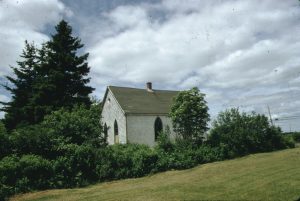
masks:
<path fill-rule="evenodd" d="M 73 106 L 74 104 L 91 104 L 88 95 L 93 88 L 86 86 L 90 81 L 88 53 L 77 55 L 83 47 L 78 37 L 72 36 L 72 28 L 62 20 L 56 26 L 57 33 L 47 43 L 49 48 L 48 62 L 45 68 L 49 73 L 48 81 L 55 86 L 53 91 L 54 105 Z"/>

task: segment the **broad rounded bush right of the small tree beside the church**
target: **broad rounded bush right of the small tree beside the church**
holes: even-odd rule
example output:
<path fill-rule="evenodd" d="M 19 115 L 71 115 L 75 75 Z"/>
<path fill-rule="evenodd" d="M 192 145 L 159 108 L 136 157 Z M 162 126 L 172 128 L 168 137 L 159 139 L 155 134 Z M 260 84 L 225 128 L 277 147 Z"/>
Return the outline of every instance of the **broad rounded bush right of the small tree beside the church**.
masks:
<path fill-rule="evenodd" d="M 271 126 L 266 116 L 240 113 L 238 109 L 218 115 L 210 130 L 209 143 L 225 146 L 229 157 L 287 147 L 280 128 Z"/>

